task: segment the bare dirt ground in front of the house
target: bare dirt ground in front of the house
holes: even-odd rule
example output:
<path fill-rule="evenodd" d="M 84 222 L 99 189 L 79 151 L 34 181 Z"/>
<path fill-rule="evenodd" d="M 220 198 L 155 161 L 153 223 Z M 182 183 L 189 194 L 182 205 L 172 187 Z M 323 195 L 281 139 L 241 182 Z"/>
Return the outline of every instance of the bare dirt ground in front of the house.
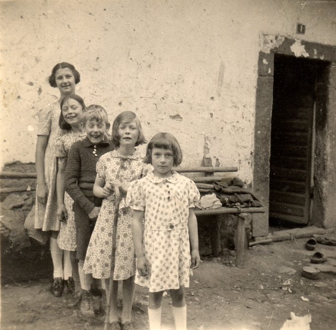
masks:
<path fill-rule="evenodd" d="M 186 289 L 188 329 L 278 330 L 290 312 L 311 314 L 312 330 L 335 329 L 336 274 L 321 272 L 319 280 L 301 276 L 313 253 L 305 250 L 305 241 L 256 245 L 247 251 L 244 268 L 232 266 L 233 251 L 203 258 Z M 336 263 L 336 247 L 318 244 L 317 250 L 328 257 L 328 264 Z M 103 329 L 103 315 L 82 318 L 78 309 L 67 308 L 66 295 L 52 296 L 49 286 L 45 278 L 2 286 L 1 329 Z M 136 288 L 135 329 L 148 329 L 147 294 Z M 162 324 L 163 329 L 174 329 L 169 297 L 164 298 Z"/>

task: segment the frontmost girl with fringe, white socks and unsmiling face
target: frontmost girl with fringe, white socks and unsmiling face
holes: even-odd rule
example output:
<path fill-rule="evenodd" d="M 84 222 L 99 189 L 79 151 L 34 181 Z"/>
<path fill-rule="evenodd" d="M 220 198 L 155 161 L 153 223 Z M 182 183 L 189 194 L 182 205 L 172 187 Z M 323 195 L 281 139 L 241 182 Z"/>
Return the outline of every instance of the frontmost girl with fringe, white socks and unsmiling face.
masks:
<path fill-rule="evenodd" d="M 191 269 L 200 263 L 197 220 L 191 208 L 200 194 L 192 180 L 171 169 L 181 162 L 175 137 L 157 133 L 146 152 L 146 163 L 154 170 L 132 182 L 126 198 L 126 205 L 133 209 L 135 283 L 149 288 L 151 330 L 161 327 L 164 290 L 170 292 L 176 329 L 187 329 L 184 287 L 189 287 Z"/>

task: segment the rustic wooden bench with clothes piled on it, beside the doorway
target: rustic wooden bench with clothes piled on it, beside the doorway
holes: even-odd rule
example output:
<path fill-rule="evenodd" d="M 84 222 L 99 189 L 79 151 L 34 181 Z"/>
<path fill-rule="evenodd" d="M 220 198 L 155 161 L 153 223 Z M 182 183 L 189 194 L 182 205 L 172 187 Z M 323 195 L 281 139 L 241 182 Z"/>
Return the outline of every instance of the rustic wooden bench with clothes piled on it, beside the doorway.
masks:
<path fill-rule="evenodd" d="M 232 167 L 174 167 L 176 172 L 186 175 L 192 179 L 198 190 L 202 193 L 208 192 L 208 190 L 203 189 L 203 183 L 213 183 L 214 181 L 221 181 L 222 176 L 218 176 L 217 173 L 228 173 L 228 172 L 237 172 L 238 168 L 235 166 Z M 197 176 L 195 173 L 203 173 L 203 176 Z M 214 175 L 216 173 L 216 176 Z M 193 175 L 191 175 L 193 174 Z M 245 254 L 245 219 L 240 217 L 241 213 L 264 213 L 264 207 L 218 207 L 218 208 L 209 208 L 209 209 L 194 209 L 195 215 L 200 217 L 213 216 L 214 220 L 211 223 L 211 248 L 212 254 L 217 255 L 221 249 L 220 246 L 220 232 L 219 226 L 220 222 L 218 221 L 218 215 L 221 214 L 237 214 L 237 246 L 236 246 L 236 265 L 241 267 L 244 264 L 244 254 Z M 211 219 L 211 220 L 212 220 Z"/>

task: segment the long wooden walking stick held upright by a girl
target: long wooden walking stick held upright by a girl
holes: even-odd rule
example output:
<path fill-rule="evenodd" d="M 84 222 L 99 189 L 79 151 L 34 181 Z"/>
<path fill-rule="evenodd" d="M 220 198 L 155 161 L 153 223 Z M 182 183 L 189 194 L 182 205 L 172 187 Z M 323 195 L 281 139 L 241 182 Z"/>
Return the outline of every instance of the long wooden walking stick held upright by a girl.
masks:
<path fill-rule="evenodd" d="M 115 191 L 115 209 L 113 216 L 113 234 L 112 234 L 112 255 L 111 255 L 111 273 L 110 273 L 110 283 L 108 285 L 107 294 L 106 294 L 106 316 L 105 316 L 105 324 L 104 330 L 109 329 L 109 318 L 110 318 L 110 310 L 111 310 L 111 297 L 113 297 L 113 276 L 114 276 L 114 267 L 116 262 L 116 249 L 117 249 L 117 228 L 118 228 L 118 213 L 119 213 L 119 204 L 120 204 L 120 191 L 117 185 L 114 186 Z"/>

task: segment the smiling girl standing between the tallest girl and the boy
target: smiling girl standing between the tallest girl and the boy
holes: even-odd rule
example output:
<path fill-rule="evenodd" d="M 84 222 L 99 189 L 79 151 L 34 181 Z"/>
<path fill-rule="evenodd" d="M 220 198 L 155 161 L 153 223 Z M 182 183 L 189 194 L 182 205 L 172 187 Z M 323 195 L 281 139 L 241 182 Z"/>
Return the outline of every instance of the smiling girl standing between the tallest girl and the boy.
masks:
<path fill-rule="evenodd" d="M 64 192 L 64 175 L 67 156 L 71 145 L 79 140 L 83 140 L 85 133 L 82 130 L 82 116 L 86 107 L 81 96 L 70 94 L 61 101 L 61 114 L 59 126 L 67 133 L 59 137 L 55 143 L 55 156 L 58 160 L 56 175 L 56 195 L 57 195 L 57 217 L 60 221 L 60 230 L 57 236 L 57 243 L 63 252 L 63 276 L 59 278 L 60 283 L 64 280 L 68 293 L 75 293 L 75 281 L 73 273 L 78 273 L 78 265 L 71 265 L 70 251 L 77 249 L 75 216 L 72 210 L 74 201 Z M 60 253 L 62 254 L 62 253 Z M 74 268 L 74 269 L 72 269 Z M 57 280 L 57 279 L 56 279 Z M 79 279 L 77 278 L 77 282 Z M 76 291 L 80 290 L 79 283 L 76 283 Z M 63 286 L 60 286 L 62 290 Z"/>

